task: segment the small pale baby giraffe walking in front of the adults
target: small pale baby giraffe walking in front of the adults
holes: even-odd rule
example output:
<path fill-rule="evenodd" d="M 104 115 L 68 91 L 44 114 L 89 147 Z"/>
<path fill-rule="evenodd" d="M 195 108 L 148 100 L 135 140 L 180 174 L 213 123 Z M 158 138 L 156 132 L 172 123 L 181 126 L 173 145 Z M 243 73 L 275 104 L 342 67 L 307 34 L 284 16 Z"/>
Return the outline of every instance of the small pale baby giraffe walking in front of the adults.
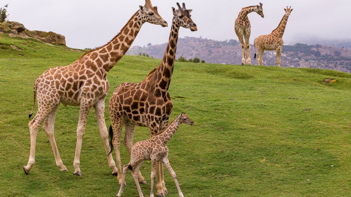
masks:
<path fill-rule="evenodd" d="M 156 176 L 156 163 L 158 161 L 165 164 L 168 171 L 170 171 L 174 182 L 177 185 L 178 193 L 180 197 L 183 197 L 183 193 L 180 190 L 179 183 L 177 180 L 176 173 L 173 171 L 170 162 L 168 161 L 168 148 L 166 143 L 171 140 L 174 133 L 178 130 L 181 123 L 194 125 L 194 122 L 191 121 L 184 112 L 182 112 L 174 121 L 172 121 L 163 131 L 159 134 L 152 136 L 148 140 L 139 141 L 132 145 L 131 147 L 131 160 L 128 164 L 123 167 L 122 183 L 124 183 L 126 173 L 128 169 L 132 170 L 132 175 L 137 184 L 139 191 L 139 196 L 144 196 L 141 192 L 139 181 L 138 181 L 138 171 L 141 167 L 141 164 L 145 160 L 151 160 L 151 193 L 150 196 L 154 196 L 153 188 L 155 183 Z M 121 188 L 117 194 L 118 197 L 122 195 L 124 184 L 121 184 Z"/>

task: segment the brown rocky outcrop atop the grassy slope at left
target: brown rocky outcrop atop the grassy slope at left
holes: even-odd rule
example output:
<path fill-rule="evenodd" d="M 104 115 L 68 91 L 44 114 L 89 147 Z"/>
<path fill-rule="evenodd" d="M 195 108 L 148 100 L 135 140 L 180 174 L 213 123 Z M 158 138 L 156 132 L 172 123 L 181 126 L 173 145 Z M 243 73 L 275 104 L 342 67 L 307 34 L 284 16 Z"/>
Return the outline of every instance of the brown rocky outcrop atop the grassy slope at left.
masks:
<path fill-rule="evenodd" d="M 66 46 L 65 36 L 54 32 L 43 32 L 38 30 L 29 30 L 23 24 L 15 21 L 5 21 L 0 23 L 0 32 L 8 33 L 11 36 L 20 36 L 22 38 L 34 38 L 45 43 L 55 43 Z"/>

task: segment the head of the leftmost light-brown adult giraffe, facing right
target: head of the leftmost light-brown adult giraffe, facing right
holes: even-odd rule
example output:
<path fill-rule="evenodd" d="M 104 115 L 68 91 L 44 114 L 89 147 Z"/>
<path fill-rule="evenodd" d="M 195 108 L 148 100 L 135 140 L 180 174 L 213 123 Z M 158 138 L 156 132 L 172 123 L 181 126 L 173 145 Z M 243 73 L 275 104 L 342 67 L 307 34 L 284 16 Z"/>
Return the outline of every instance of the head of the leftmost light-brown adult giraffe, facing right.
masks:
<path fill-rule="evenodd" d="M 143 22 L 149 22 L 155 25 L 161 25 L 162 27 L 168 27 L 168 23 L 160 16 L 157 12 L 157 7 L 151 5 L 150 0 L 145 0 L 144 6 L 139 6 L 140 18 Z"/>

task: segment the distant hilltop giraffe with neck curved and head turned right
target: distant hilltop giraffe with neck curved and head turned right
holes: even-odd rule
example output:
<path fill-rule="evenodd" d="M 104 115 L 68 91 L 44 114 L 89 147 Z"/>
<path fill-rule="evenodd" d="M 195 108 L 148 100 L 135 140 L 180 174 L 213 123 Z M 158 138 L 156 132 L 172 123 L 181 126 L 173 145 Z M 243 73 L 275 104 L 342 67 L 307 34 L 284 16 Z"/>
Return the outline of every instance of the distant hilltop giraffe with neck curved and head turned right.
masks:
<path fill-rule="evenodd" d="M 249 18 L 247 18 L 247 14 L 251 12 L 256 12 L 262 18 L 264 18 L 262 5 L 263 4 L 260 3 L 260 5 L 257 5 L 257 6 L 249 6 L 249 7 L 242 8 L 241 11 L 239 12 L 238 18 L 235 19 L 234 30 L 239 38 L 239 41 L 241 43 L 241 49 L 243 52 L 243 59 L 241 60 L 242 61 L 241 65 L 244 65 L 244 64 L 251 65 L 250 50 L 249 50 L 251 25 L 250 25 Z M 244 39 L 245 39 L 245 42 L 244 42 Z"/>

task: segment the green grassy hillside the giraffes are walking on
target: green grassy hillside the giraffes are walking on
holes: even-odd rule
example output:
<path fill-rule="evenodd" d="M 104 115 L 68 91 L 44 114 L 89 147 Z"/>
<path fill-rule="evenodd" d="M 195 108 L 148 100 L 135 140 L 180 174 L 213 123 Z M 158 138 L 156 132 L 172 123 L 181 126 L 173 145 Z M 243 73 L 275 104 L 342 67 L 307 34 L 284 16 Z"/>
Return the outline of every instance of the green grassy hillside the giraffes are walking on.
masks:
<path fill-rule="evenodd" d="M 80 169 L 73 176 L 78 107 L 60 105 L 55 139 L 68 172 L 60 172 L 44 131 L 29 175 L 28 113 L 33 84 L 46 69 L 82 52 L 0 35 L 0 196 L 115 196 L 94 110 L 86 127 Z M 10 47 L 15 46 L 18 49 Z M 110 71 L 109 100 L 121 82 L 139 82 L 160 60 L 124 56 Z M 335 83 L 325 84 L 329 77 Z M 176 62 L 170 86 L 171 119 L 184 111 L 168 143 L 169 160 L 185 196 L 348 196 L 351 189 L 351 74 L 320 69 Z M 106 108 L 107 108 L 106 102 Z M 35 112 L 37 110 L 37 105 Z M 106 123 L 110 125 L 108 111 Z M 150 137 L 137 127 L 134 142 Z M 121 147 L 122 165 L 128 159 Z M 150 193 L 150 163 L 141 172 Z M 170 197 L 178 196 L 165 171 Z M 132 176 L 123 196 L 138 196 Z"/>

